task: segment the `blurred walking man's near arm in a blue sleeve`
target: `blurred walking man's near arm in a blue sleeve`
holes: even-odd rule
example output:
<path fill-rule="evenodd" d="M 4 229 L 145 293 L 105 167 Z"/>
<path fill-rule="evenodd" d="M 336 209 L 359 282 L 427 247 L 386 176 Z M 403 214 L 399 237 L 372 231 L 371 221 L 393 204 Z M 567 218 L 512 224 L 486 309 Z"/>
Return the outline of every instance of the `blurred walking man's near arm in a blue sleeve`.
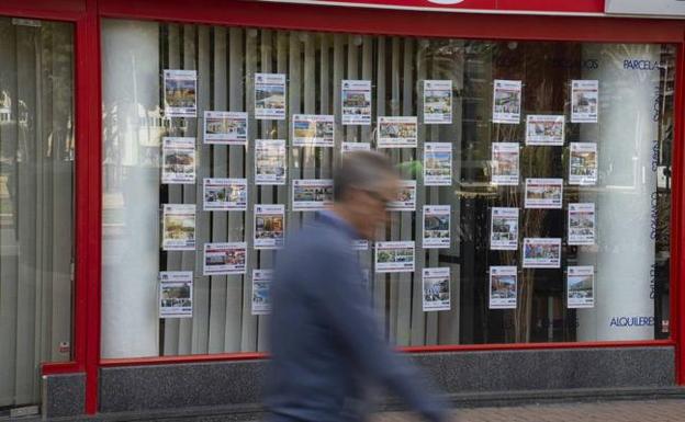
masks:
<path fill-rule="evenodd" d="M 326 248 L 328 249 L 328 248 Z M 357 280 L 360 270 L 346 252 L 319 251 L 322 281 L 317 303 L 333 329 L 349 347 L 349 353 L 377 380 L 407 401 L 428 420 L 445 421 L 447 412 L 436 397 L 429 396 L 420 374 L 403 362 L 383 341 L 368 295 Z"/>

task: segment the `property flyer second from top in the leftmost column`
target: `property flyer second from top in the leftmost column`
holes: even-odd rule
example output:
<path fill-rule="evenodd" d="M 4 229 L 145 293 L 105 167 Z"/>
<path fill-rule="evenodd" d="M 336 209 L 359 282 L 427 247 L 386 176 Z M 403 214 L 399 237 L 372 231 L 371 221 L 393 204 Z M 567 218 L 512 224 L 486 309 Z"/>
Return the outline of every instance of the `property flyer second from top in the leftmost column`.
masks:
<path fill-rule="evenodd" d="M 161 183 L 195 183 L 195 138 L 161 139 Z"/>

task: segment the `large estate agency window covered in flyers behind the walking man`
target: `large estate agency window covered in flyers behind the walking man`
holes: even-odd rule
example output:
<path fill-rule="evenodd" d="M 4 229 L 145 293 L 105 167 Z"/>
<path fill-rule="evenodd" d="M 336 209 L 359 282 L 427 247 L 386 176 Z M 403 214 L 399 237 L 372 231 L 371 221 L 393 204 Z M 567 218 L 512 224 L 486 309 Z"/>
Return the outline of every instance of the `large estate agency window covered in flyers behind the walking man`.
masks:
<path fill-rule="evenodd" d="M 274 252 L 356 149 L 403 179 L 355 244 L 394 344 L 669 335 L 673 46 L 102 31 L 104 357 L 268 350 Z"/>

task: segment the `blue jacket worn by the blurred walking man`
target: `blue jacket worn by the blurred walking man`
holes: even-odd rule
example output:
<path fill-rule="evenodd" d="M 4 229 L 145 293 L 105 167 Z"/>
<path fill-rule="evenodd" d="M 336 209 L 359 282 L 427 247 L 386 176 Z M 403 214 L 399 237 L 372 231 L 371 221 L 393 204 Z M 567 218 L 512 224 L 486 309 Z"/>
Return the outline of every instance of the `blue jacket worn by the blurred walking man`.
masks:
<path fill-rule="evenodd" d="M 419 374 L 382 340 L 351 249 L 358 238 L 323 212 L 277 255 L 266 388 L 271 421 L 359 420 L 350 403 L 361 397 L 360 380 L 384 385 L 428 420 L 443 420 Z"/>

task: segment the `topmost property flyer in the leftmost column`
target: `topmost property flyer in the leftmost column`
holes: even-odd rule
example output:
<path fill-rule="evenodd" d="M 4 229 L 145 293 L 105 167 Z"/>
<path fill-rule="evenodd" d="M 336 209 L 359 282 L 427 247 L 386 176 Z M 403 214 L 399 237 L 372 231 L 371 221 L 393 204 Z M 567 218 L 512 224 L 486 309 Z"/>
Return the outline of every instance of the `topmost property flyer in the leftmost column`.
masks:
<path fill-rule="evenodd" d="M 198 116 L 198 72 L 195 70 L 164 71 L 165 117 Z"/>

